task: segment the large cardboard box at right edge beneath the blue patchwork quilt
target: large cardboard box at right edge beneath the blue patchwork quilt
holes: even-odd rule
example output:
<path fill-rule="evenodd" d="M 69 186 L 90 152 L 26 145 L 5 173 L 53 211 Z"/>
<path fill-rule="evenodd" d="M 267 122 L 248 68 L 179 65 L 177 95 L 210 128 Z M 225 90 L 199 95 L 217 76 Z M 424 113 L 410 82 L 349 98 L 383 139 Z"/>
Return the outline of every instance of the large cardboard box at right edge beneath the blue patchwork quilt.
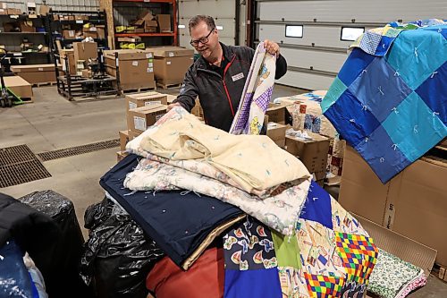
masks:
<path fill-rule="evenodd" d="M 346 147 L 339 201 L 366 217 L 438 251 L 436 262 L 447 267 L 447 161 L 420 158 L 386 184 L 367 162 Z"/>

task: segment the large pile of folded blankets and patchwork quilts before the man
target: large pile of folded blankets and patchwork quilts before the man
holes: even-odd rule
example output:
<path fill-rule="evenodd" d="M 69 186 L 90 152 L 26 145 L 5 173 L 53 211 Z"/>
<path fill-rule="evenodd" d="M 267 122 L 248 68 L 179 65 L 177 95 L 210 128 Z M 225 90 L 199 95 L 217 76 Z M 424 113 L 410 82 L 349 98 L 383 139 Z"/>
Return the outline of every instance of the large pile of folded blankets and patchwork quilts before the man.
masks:
<path fill-rule="evenodd" d="M 136 215 L 135 220 L 143 222 L 143 229 L 148 226 L 148 235 L 183 269 L 194 268 L 208 245 L 222 239 L 224 297 L 361 296 L 366 291 L 378 254 L 372 239 L 354 217 L 311 181 L 298 158 L 268 137 L 223 132 L 175 107 L 131 140 L 127 149 L 142 158 L 122 177 L 127 193 L 116 193 L 124 201 L 117 200 L 124 208 L 132 204 L 141 207 L 142 203 L 135 201 L 143 200 L 133 198 L 144 194 L 157 206 L 162 203 L 156 203 L 157 197 L 164 196 L 163 209 L 152 210 L 156 215 Z M 122 163 L 129 163 L 129 158 Z M 103 177 L 102 183 L 110 185 L 113 176 Z M 210 201 L 211 206 L 206 207 L 182 205 L 195 217 L 222 209 L 216 199 L 240 212 L 229 212 L 226 220 L 215 215 L 215 223 L 200 237 L 196 231 L 200 223 L 171 224 L 170 234 L 160 236 L 160 231 L 167 231 L 164 224 L 179 223 L 170 216 L 178 215 L 175 204 L 181 199 L 172 200 L 171 206 L 166 193 Z M 202 223 L 209 224 L 209 218 Z M 190 241 L 189 236 L 194 235 L 203 241 L 179 249 L 182 241 L 173 243 L 179 234 L 183 240 Z M 192 246 L 195 249 L 191 250 Z"/>

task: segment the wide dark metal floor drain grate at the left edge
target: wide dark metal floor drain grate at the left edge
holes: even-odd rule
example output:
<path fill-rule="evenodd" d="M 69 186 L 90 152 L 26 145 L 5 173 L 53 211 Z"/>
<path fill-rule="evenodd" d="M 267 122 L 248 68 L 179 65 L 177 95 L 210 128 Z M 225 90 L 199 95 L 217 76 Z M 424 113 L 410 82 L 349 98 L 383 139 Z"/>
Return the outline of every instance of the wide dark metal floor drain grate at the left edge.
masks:
<path fill-rule="evenodd" d="M 51 177 L 27 145 L 0 149 L 0 188 Z"/>

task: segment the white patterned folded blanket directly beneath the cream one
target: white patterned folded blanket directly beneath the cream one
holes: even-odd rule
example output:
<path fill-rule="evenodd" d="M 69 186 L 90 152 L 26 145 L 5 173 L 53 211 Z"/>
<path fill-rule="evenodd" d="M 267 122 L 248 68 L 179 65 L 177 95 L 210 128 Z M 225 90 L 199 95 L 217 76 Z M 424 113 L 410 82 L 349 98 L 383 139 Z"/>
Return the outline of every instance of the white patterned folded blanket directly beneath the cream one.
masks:
<path fill-rule="evenodd" d="M 139 166 L 126 176 L 124 186 L 132 191 L 162 191 L 164 187 L 171 189 L 174 186 L 206 194 L 239 207 L 282 234 L 292 234 L 308 194 L 310 179 L 302 179 L 296 183 L 288 185 L 283 192 L 261 200 L 255 195 L 207 176 L 143 159 Z"/>

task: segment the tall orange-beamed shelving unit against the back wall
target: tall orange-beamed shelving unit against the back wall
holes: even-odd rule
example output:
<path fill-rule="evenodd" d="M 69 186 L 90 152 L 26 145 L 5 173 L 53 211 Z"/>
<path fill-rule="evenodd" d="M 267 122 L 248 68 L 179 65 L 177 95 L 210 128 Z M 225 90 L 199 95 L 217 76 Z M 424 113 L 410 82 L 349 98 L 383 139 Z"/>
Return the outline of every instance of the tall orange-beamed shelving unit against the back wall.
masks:
<path fill-rule="evenodd" d="M 176 0 L 100 0 L 100 7 L 107 14 L 108 32 L 112 47 L 119 48 L 117 38 L 140 37 L 146 46 L 178 46 Z M 172 32 L 115 32 L 116 26 L 131 25 L 132 17 L 150 9 L 156 13 L 171 15 Z"/>

